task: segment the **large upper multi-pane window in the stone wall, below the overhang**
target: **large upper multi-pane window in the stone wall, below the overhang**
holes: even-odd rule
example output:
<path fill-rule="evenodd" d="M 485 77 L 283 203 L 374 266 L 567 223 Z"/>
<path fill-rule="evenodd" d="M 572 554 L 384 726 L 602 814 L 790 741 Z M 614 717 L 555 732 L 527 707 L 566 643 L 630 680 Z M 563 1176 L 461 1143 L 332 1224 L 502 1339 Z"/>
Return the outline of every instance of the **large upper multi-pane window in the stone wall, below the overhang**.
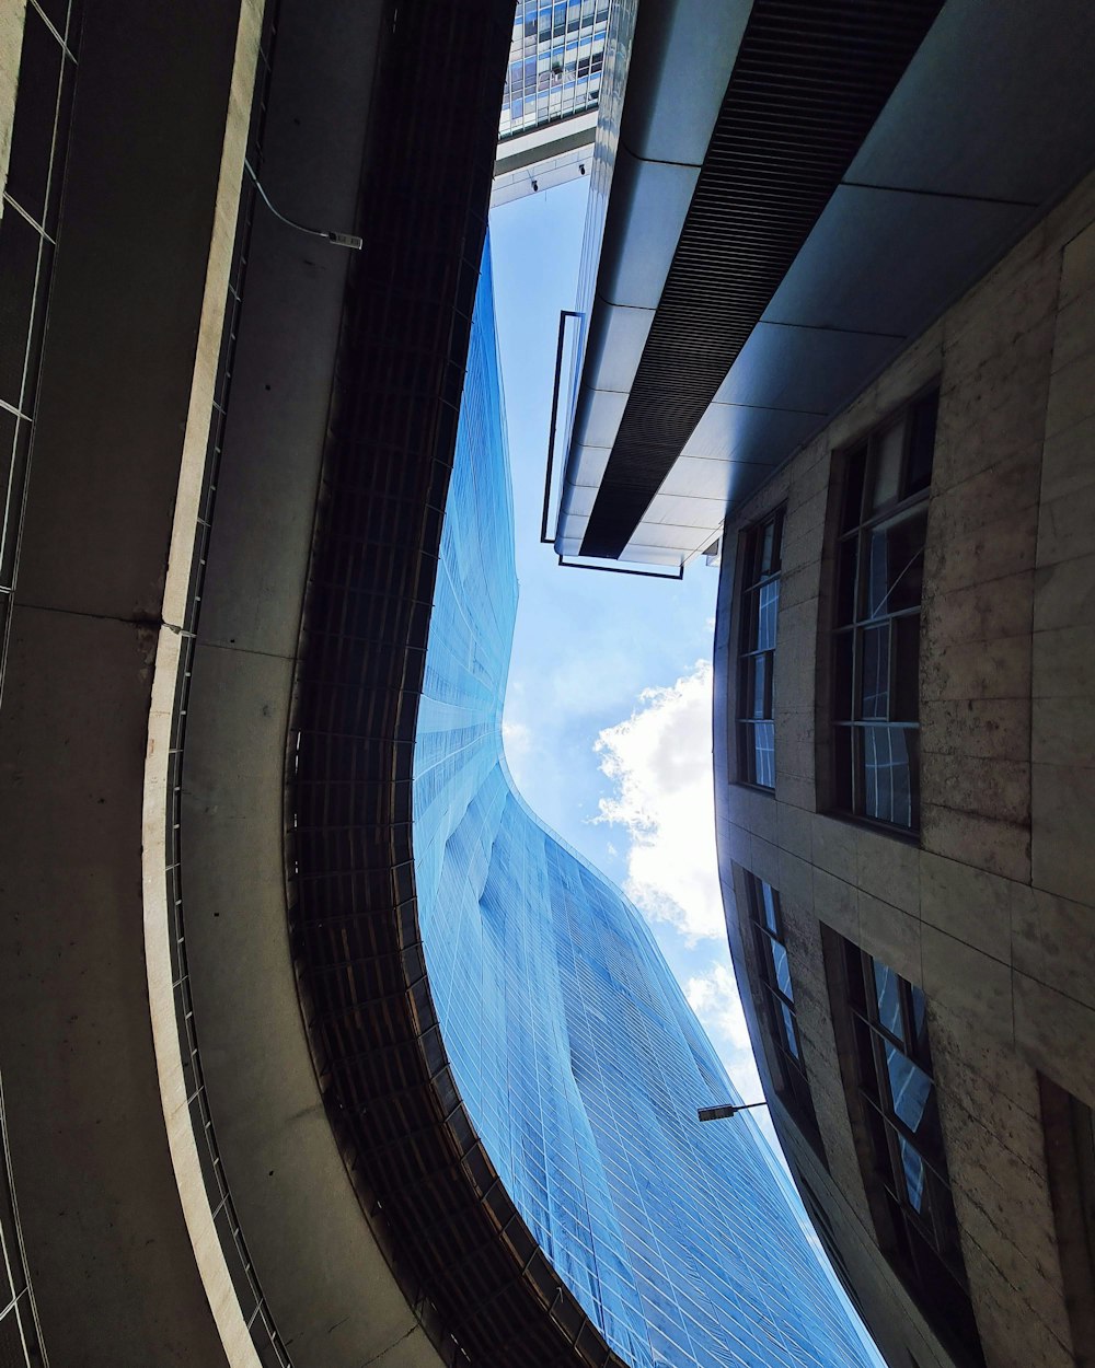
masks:
<path fill-rule="evenodd" d="M 835 806 L 920 829 L 920 599 L 939 393 L 846 454 L 834 633 Z"/>

